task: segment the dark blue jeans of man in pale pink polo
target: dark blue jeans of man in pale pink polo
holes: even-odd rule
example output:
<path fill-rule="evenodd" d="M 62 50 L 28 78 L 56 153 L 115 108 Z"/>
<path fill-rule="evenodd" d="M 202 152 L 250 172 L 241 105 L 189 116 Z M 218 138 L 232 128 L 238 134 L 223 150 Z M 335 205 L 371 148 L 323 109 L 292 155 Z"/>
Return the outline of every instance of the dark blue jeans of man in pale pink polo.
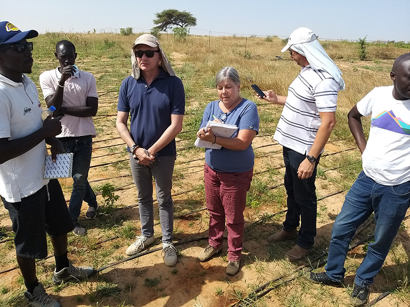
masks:
<path fill-rule="evenodd" d="M 91 136 L 78 137 L 75 140 L 61 142 L 66 152 L 74 153 L 73 160 L 73 191 L 71 193 L 70 211 L 73 222 L 78 221 L 83 200 L 89 206 L 97 206 L 95 193 L 88 183 L 88 171 L 91 163 L 91 153 L 93 150 L 93 140 Z"/>

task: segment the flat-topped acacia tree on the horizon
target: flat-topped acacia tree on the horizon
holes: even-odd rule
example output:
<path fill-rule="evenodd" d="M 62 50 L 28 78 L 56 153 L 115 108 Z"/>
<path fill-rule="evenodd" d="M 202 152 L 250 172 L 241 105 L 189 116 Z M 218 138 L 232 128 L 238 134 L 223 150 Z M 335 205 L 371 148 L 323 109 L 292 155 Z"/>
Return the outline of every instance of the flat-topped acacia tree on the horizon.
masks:
<path fill-rule="evenodd" d="M 178 11 L 175 9 L 163 10 L 160 13 L 155 13 L 156 19 L 153 20 L 157 25 L 154 29 L 164 31 L 173 26 L 179 26 L 181 28 L 195 27 L 196 18 L 187 11 Z"/>

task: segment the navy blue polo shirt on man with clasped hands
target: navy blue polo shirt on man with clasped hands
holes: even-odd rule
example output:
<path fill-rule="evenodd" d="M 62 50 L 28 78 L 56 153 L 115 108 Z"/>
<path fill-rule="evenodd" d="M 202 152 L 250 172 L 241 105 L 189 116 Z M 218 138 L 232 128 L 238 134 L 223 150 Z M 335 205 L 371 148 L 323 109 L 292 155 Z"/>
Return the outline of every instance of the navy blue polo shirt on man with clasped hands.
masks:
<path fill-rule="evenodd" d="M 150 148 L 171 125 L 171 114 L 185 114 L 182 81 L 163 69 L 149 86 L 142 76 L 138 80 L 129 76 L 121 83 L 117 110 L 130 113 L 130 132 L 135 144 Z M 157 154 L 176 155 L 175 139 Z"/>

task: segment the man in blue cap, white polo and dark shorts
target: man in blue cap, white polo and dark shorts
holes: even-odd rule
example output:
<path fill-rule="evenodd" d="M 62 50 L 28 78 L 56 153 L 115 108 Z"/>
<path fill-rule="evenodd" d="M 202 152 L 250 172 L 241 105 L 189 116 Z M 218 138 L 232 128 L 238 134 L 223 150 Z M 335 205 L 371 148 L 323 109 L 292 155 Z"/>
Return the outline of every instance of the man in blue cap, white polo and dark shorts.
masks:
<path fill-rule="evenodd" d="M 8 21 L 0 22 L 0 195 L 9 211 L 14 244 L 30 306 L 58 307 L 36 277 L 35 259 L 47 256 L 46 232 L 54 248 L 53 282 L 84 279 L 91 267 L 77 268 L 67 257 L 67 233 L 73 229 L 63 191 L 57 180 L 43 178 L 46 143 L 52 159 L 64 152 L 55 138 L 61 132 L 60 117 L 41 118 L 41 104 L 31 73 L 33 43 L 37 31 L 22 32 Z"/>

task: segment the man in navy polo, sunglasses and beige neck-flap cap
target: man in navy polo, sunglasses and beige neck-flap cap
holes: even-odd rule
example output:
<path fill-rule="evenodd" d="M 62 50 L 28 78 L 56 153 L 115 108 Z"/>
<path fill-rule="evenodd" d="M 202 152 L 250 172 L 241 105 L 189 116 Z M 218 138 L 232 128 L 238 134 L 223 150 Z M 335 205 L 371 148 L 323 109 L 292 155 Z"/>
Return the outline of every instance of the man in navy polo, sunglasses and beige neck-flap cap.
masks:
<path fill-rule="evenodd" d="M 143 34 L 135 40 L 131 62 L 132 74 L 122 81 L 119 90 L 117 130 L 128 146 L 138 190 L 141 235 L 127 248 L 126 254 L 135 255 L 155 241 L 154 177 L 164 262 L 172 267 L 177 262 L 172 244 L 172 173 L 176 159 L 175 137 L 182 130 L 185 113 L 185 92 L 155 36 Z"/>

